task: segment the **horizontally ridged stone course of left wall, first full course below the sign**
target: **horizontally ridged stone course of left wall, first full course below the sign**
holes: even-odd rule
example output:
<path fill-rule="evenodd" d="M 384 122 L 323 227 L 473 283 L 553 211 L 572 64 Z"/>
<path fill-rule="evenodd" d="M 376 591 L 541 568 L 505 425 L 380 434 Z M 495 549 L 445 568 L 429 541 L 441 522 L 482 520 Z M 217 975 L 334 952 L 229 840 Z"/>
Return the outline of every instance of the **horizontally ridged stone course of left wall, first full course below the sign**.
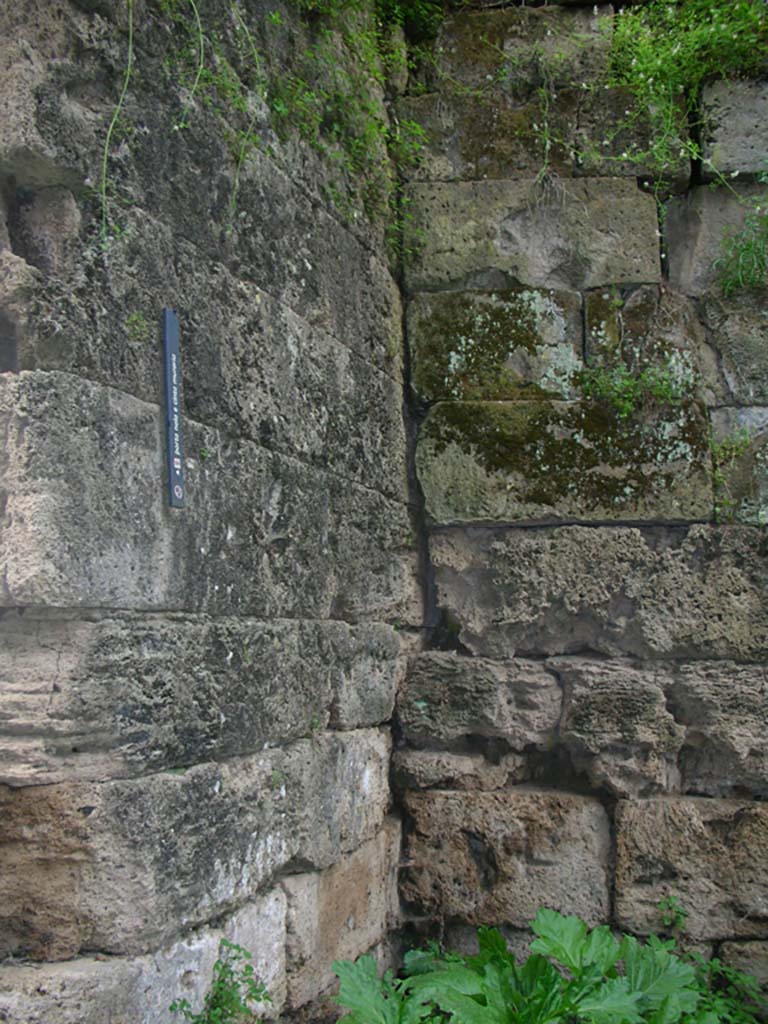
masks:
<path fill-rule="evenodd" d="M 391 716 L 386 626 L 14 612 L 0 621 L 0 782 L 132 776 Z M 290 683 L 289 683 L 290 681 Z"/>

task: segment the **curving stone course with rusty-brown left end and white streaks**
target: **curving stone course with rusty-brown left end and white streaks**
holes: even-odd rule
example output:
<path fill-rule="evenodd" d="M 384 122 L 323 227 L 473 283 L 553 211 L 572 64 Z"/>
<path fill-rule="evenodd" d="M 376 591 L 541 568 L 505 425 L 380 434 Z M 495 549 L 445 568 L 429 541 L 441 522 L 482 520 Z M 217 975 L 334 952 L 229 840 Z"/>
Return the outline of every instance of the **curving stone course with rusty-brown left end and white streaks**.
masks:
<path fill-rule="evenodd" d="M 0 950 L 141 953 L 252 899 L 289 863 L 322 869 L 375 836 L 384 731 L 313 734 L 180 773 L 0 790 Z"/>

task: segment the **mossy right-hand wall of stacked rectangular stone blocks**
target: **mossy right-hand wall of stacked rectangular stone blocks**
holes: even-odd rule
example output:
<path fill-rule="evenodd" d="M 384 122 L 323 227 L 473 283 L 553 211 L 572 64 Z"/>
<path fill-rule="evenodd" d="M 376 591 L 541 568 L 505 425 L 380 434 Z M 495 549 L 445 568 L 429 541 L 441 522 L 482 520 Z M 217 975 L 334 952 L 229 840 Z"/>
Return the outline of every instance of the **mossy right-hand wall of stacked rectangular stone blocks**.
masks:
<path fill-rule="evenodd" d="M 645 935 L 675 896 L 688 941 L 755 970 L 768 296 L 724 297 L 714 263 L 758 187 L 768 91 L 707 88 L 705 156 L 739 177 L 712 190 L 681 158 L 659 218 L 625 159 L 647 126 L 628 135 L 601 82 L 610 8 L 486 6 L 444 22 L 400 108 L 428 146 L 406 275 L 430 637 L 398 698 L 408 915 L 459 945 L 480 924 L 522 943 L 540 905 Z M 616 368 L 671 400 L 590 394 Z"/>

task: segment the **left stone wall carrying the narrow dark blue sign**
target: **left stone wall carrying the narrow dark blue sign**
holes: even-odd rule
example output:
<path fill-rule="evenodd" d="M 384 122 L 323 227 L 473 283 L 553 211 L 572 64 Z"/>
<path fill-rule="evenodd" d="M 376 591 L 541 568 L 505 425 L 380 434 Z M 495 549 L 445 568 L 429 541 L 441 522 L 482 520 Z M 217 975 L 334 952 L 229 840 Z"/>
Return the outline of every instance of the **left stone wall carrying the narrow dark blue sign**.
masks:
<path fill-rule="evenodd" d="M 300 1016 L 397 924 L 399 292 L 382 225 L 249 78 L 238 18 L 288 68 L 318 31 L 291 4 L 201 5 L 219 78 L 193 94 L 191 9 L 135 0 L 101 230 L 128 9 L 0 11 L 0 1018 L 166 1021 L 222 936 Z"/>

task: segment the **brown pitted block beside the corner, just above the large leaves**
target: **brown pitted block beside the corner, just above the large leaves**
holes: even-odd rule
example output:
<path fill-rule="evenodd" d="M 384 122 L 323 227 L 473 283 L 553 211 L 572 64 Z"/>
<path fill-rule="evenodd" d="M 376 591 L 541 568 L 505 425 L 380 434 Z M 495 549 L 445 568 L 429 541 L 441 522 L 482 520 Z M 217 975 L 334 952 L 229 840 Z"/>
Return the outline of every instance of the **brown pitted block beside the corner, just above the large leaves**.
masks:
<path fill-rule="evenodd" d="M 417 911 L 523 928 L 542 905 L 590 924 L 608 914 L 608 819 L 552 791 L 406 796 L 413 827 L 402 895 Z"/>

